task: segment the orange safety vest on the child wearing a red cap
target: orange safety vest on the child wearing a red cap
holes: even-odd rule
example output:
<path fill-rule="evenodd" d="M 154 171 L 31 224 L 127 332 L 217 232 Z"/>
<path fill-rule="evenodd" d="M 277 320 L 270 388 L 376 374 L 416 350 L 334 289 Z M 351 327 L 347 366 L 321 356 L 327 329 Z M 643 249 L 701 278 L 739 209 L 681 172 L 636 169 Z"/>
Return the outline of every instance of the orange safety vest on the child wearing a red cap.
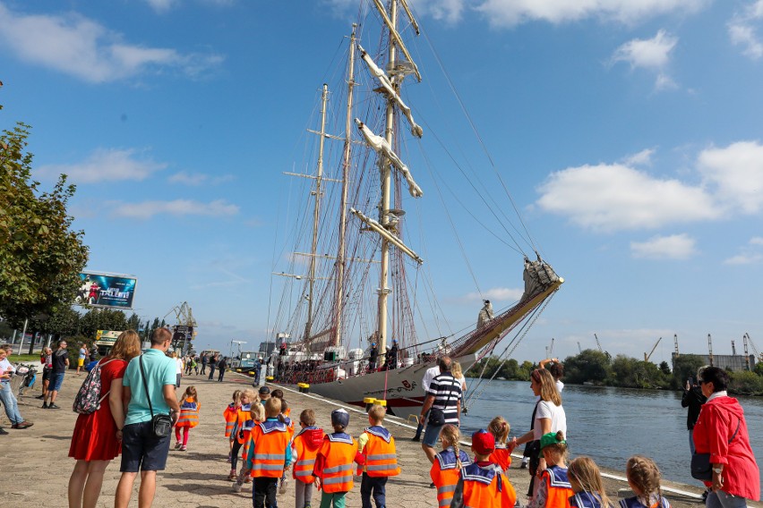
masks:
<path fill-rule="evenodd" d="M 514 487 L 497 464 L 486 467 L 476 463 L 469 464 L 461 469 L 461 478 L 464 481 L 465 507 L 502 508 L 513 506 L 517 501 Z"/>

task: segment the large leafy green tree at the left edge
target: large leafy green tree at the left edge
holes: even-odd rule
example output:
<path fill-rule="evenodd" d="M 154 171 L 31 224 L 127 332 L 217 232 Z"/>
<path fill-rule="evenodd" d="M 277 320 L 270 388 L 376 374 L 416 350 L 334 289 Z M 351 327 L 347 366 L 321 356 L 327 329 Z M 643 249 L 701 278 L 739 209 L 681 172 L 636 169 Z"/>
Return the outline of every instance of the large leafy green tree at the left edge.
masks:
<path fill-rule="evenodd" d="M 50 191 L 31 179 L 29 129 L 18 123 L 0 135 L 0 315 L 15 327 L 67 307 L 88 260 L 66 212 L 75 187 L 64 174 Z"/>

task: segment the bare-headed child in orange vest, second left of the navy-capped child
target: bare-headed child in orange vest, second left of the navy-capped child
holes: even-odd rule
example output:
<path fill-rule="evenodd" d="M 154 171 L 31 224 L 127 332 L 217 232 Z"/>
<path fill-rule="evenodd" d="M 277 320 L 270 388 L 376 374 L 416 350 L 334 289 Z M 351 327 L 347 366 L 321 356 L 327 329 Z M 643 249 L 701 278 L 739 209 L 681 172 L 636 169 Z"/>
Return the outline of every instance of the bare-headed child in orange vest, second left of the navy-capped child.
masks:
<path fill-rule="evenodd" d="M 253 508 L 276 508 L 279 478 L 284 464 L 291 461 L 288 445 L 288 431 L 284 422 L 279 421 L 280 399 L 270 398 L 265 402 L 265 421 L 254 426 L 249 438 L 245 470 L 254 479 L 252 488 Z M 239 483 L 236 483 L 239 485 Z"/>

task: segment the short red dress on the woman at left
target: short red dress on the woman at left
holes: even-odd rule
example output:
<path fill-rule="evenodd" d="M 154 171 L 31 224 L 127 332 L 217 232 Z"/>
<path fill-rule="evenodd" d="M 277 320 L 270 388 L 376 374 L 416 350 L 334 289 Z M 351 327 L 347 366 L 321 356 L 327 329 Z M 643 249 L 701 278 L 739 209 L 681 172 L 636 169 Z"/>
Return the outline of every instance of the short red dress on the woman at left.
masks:
<path fill-rule="evenodd" d="M 108 360 L 105 358 L 99 363 Z M 110 361 L 100 369 L 101 397 L 106 395 L 113 380 L 124 377 L 126 369 L 127 362 L 124 360 Z M 98 411 L 77 417 L 69 456 L 78 461 L 110 461 L 119 453 L 122 453 L 122 443 L 116 439 L 116 423 L 106 397 Z"/>

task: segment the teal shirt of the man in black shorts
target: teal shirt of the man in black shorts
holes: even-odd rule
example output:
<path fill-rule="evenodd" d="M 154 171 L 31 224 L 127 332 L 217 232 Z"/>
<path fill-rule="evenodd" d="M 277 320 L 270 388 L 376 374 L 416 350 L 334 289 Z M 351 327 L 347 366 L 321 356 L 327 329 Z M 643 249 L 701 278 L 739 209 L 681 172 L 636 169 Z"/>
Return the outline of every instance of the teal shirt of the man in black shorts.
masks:
<path fill-rule="evenodd" d="M 177 381 L 175 375 L 176 361 L 159 350 L 150 349 L 144 352 L 143 370 L 146 373 L 145 380 L 148 381 L 149 394 L 151 396 L 151 406 L 154 414 L 169 412 L 169 406 L 164 400 L 164 385 L 173 385 Z M 141 356 L 130 360 L 127 370 L 124 371 L 122 378 L 123 386 L 130 386 L 130 403 L 127 405 L 127 417 L 124 419 L 124 425 L 150 421 L 151 411 L 149 401 L 146 399 L 146 389 L 144 377 L 141 375 L 141 365 L 139 360 Z"/>

